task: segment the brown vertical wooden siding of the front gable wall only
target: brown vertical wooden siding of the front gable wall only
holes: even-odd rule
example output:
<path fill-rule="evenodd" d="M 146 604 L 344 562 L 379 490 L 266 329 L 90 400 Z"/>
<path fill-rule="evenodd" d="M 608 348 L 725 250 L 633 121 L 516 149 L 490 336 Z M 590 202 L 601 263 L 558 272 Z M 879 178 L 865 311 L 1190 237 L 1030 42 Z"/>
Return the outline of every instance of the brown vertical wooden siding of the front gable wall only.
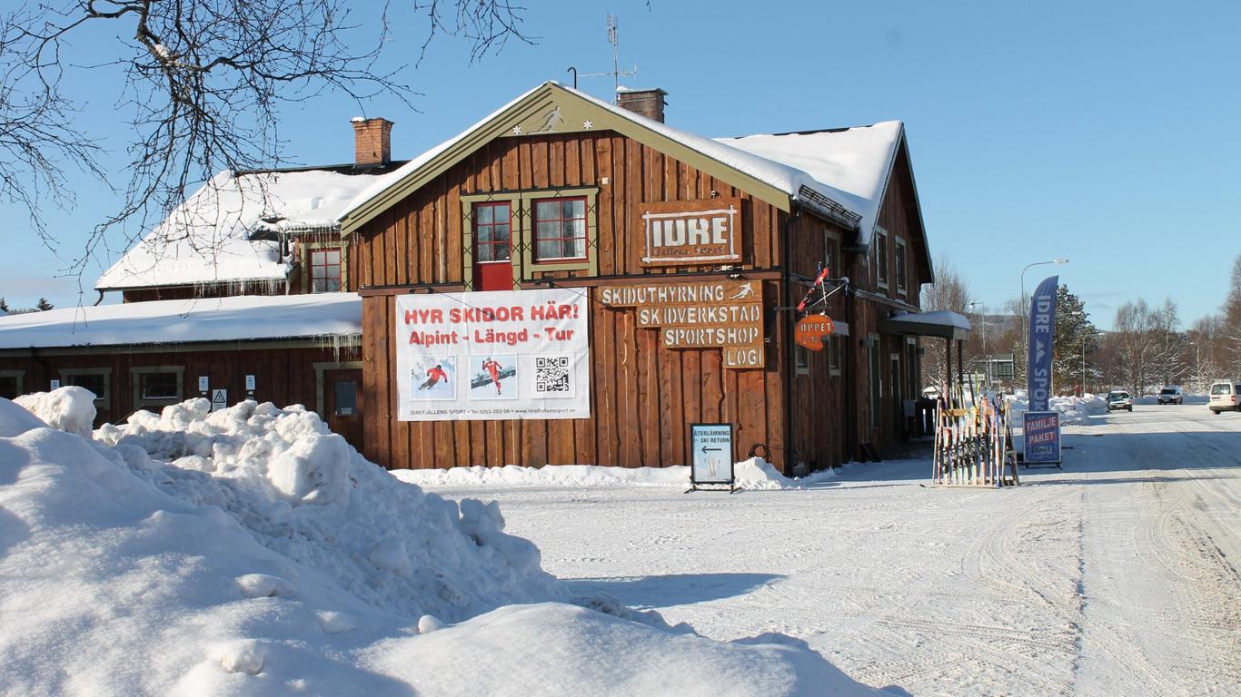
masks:
<path fill-rule="evenodd" d="M 597 243 L 591 249 L 599 277 L 658 280 L 678 270 L 712 272 L 711 265 L 644 269 L 640 237 L 633 228 L 640 202 L 710 198 L 712 192 L 743 200 L 745 268 L 778 264 L 776 231 L 784 215 L 777 208 L 635 140 L 599 131 L 489 143 L 351 236 L 350 278 L 361 288 L 463 288 L 463 241 L 469 233 L 462 218 L 463 195 L 576 186 L 599 187 Z M 583 273 L 534 268 L 521 275 L 532 288 L 539 280 L 578 279 Z M 763 282 L 763 293 L 767 308 L 783 296 L 776 280 Z M 787 361 L 778 339 L 786 331 L 783 316 L 769 322 L 767 368 L 733 371 L 722 368 L 719 348 L 665 348 L 658 330 L 637 327 L 633 310 L 592 305 L 589 419 L 417 423 L 396 420 L 392 311 L 388 296 L 364 299 L 365 392 L 377 411 L 377 418 L 366 423 L 366 454 L 386 466 L 680 465 L 689 461 L 688 424 L 715 420 L 735 424 L 737 456 L 763 444 L 774 461 L 786 458 Z"/>

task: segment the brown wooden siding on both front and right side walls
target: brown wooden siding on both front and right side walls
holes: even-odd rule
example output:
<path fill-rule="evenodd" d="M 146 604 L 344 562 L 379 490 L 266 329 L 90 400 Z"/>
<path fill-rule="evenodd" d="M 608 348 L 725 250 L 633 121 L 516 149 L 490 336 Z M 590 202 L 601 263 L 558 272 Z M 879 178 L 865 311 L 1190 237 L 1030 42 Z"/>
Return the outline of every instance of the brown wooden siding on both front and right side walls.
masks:
<path fill-rule="evenodd" d="M 907 167 L 907 160 L 902 166 Z M 464 246 L 470 231 L 462 215 L 462 197 L 495 193 L 505 198 L 524 191 L 582 186 L 598 187 L 597 238 L 591 249 L 598 279 L 580 270 L 519 268 L 515 275 L 520 285 L 537 288 L 549 280 L 571 285 L 649 283 L 665 275 L 679 277 L 666 278 L 669 283 L 724 279 L 726 274 L 710 265 L 644 268 L 634 213 L 647 201 L 740 197 L 745 239 L 738 270 L 763 279 L 767 367 L 724 370 L 719 348 L 664 348 L 658 330 L 638 329 L 632 311 L 592 305 L 591 418 L 397 420 L 391 293 L 419 291 L 419 286 L 446 291 L 468 288 Z M 794 283 L 786 286 L 779 270 L 789 220 L 794 221 L 788 241 Z M 907 243 L 906 300 L 916 305 L 926 249 L 920 242 L 907 169 L 894 174 L 880 222 L 889 234 Z M 372 415 L 365 424 L 366 455 L 387 468 L 679 465 L 690 460 L 688 424 L 716 420 L 733 424 L 737 458 L 745 458 L 755 445 L 767 445 L 771 460 L 786 471 L 798 463 L 822 468 L 855 459 L 860 443 L 884 448 L 903 437 L 901 406 L 920 387 L 916 368 L 908 366 L 906 337 L 881 336 L 874 350 L 880 358 L 882 401 L 871 425 L 870 348 L 864 340 L 879 334 L 880 319 L 906 304 L 891 298 L 895 283 L 884 293 L 891 298 L 887 301 L 865 293 L 849 298 L 839 293 L 828 301 L 829 316 L 850 325 L 850 336 L 840 340 L 839 375 L 830 375 L 828 351 L 809 352 L 808 375 L 789 375 L 795 360 L 793 316 L 776 308 L 793 305 L 805 293 L 804 279 L 813 278 L 824 259 L 825 238 L 831 239 L 836 254 L 831 277 L 848 275 L 860 283 L 860 290 L 877 291 L 869 254 L 839 257 L 851 232 L 809 213 L 791 218 L 791 213 L 637 140 L 611 131 L 495 139 L 349 237 L 349 277 L 364 291 L 364 392 Z M 894 352 L 900 361 L 897 380 L 892 375 Z"/>

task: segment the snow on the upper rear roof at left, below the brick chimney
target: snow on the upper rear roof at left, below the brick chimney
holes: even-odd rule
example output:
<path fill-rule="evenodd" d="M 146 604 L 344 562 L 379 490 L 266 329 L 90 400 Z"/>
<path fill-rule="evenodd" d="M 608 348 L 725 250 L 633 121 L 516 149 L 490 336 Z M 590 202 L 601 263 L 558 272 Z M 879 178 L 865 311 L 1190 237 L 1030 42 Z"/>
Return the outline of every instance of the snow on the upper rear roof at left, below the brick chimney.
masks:
<path fill-rule="evenodd" d="M 176 207 L 99 280 L 97 290 L 283 280 L 292 260 L 256 231 L 333 231 L 375 175 L 325 170 L 220 172 Z"/>

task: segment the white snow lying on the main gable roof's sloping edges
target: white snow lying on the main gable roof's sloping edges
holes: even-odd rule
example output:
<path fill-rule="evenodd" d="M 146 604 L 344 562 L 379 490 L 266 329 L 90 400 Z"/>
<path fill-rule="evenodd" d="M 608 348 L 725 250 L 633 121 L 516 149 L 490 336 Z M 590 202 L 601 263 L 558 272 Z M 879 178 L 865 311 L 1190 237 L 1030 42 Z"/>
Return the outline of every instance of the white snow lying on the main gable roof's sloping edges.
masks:
<path fill-rule="evenodd" d="M 867 196 L 880 197 L 882 196 L 882 185 L 886 181 L 887 169 L 892 162 L 892 153 L 895 153 L 895 144 L 897 135 L 901 131 L 900 122 L 886 122 L 885 124 L 877 124 L 875 127 L 866 127 L 862 129 L 856 129 L 865 131 L 867 129 L 876 129 L 874 133 L 865 134 L 864 136 L 851 136 L 846 139 L 838 139 L 839 143 L 835 155 L 824 155 L 822 159 L 812 160 L 809 162 L 786 162 L 781 160 L 777 155 L 767 153 L 772 146 L 762 141 L 748 141 L 748 139 L 720 139 L 712 140 L 710 138 L 697 135 L 686 130 L 673 128 L 665 123 L 656 122 L 654 119 L 648 119 L 635 112 L 624 109 L 604 102 L 585 92 L 578 92 L 571 87 L 562 86 L 557 82 L 546 82 L 530 89 L 517 97 L 516 99 L 509 102 L 508 104 L 500 107 L 486 118 L 457 134 L 455 136 L 436 145 L 431 150 L 427 150 L 422 155 L 418 155 L 413 160 L 406 162 L 402 167 L 381 176 L 375 184 L 361 191 L 350 203 L 341 211 L 340 218 L 344 218 L 349 213 L 352 213 L 357 208 L 362 207 L 366 202 L 381 195 L 388 187 L 395 186 L 397 182 L 403 180 L 406 176 L 418 171 L 423 165 L 429 162 L 437 155 L 448 150 L 458 141 L 465 139 L 475 130 L 485 127 L 495 117 L 504 113 L 513 105 L 517 104 L 534 92 L 541 89 L 547 84 L 555 84 L 566 92 L 580 97 L 601 109 L 606 109 L 620 118 L 628 119 L 635 124 L 639 124 L 649 130 L 658 133 L 670 140 L 674 140 L 686 148 L 696 150 L 712 160 L 716 160 L 728 167 L 737 171 L 747 174 L 764 184 L 768 184 L 784 193 L 788 193 L 791 198 L 799 200 L 802 197 L 803 187 L 828 198 L 848 211 L 856 213 L 862 217 L 862 221 L 870 221 L 874 224 L 874 218 L 879 212 L 879 201 L 871 201 Z M 850 129 L 855 130 L 855 129 Z M 755 138 L 783 138 L 783 136 L 755 136 Z M 885 139 L 889 139 L 887 150 L 884 151 Z M 845 144 L 853 145 L 858 151 L 850 153 L 845 149 Z M 783 150 L 783 149 L 777 149 Z M 829 184 L 828 181 L 820 181 L 813 176 L 809 171 L 798 169 L 799 166 L 817 165 L 815 170 L 819 176 L 824 176 L 829 180 L 836 181 L 838 184 Z M 834 166 L 858 166 L 864 171 L 860 172 L 854 179 L 841 177 L 839 175 L 829 176 L 833 172 Z M 875 172 L 879 172 L 876 176 Z M 877 179 L 877 186 L 866 186 L 864 182 L 872 181 Z M 858 191 L 853 191 L 858 189 Z M 870 216 L 867 218 L 867 212 Z M 870 238 L 869 224 L 861 232 L 864 241 Z"/>

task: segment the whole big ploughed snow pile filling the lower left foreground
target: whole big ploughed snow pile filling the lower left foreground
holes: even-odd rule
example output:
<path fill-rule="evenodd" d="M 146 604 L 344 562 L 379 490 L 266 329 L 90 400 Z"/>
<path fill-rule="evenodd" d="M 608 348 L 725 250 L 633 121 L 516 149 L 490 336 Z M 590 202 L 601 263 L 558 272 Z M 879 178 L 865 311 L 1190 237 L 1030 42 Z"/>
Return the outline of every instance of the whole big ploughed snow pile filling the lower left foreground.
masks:
<path fill-rule="evenodd" d="M 36 407 L 81 427 L 65 389 Z M 130 422 L 83 438 L 0 399 L 0 693 L 876 693 L 778 637 L 547 602 L 494 504 L 402 484 L 302 408 Z"/>

